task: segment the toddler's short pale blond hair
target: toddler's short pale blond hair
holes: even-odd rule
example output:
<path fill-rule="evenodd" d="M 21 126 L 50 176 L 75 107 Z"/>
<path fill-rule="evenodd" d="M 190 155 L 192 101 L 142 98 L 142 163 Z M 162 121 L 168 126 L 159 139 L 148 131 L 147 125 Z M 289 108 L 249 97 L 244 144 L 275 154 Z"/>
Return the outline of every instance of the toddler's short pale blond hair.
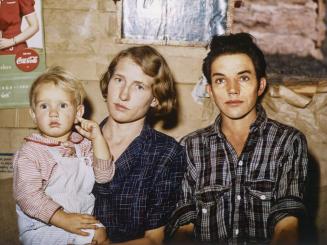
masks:
<path fill-rule="evenodd" d="M 33 82 L 30 92 L 29 101 L 31 108 L 35 107 L 35 97 L 40 85 L 52 83 L 65 91 L 74 94 L 76 105 L 83 104 L 85 91 L 82 82 L 72 73 L 60 66 L 50 67 Z"/>

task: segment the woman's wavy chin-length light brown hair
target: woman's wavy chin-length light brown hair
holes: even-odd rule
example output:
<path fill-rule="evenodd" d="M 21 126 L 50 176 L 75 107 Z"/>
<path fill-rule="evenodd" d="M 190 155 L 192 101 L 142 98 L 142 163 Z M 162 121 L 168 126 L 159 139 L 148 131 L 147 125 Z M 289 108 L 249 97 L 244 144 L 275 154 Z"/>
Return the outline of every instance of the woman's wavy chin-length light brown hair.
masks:
<path fill-rule="evenodd" d="M 156 114 L 164 115 L 175 109 L 177 99 L 174 76 L 165 58 L 157 50 L 147 45 L 125 49 L 113 58 L 108 70 L 100 80 L 103 98 L 107 99 L 109 81 L 118 62 L 125 57 L 131 58 L 146 75 L 154 79 L 152 93 L 158 100 L 158 106 L 154 109 Z"/>

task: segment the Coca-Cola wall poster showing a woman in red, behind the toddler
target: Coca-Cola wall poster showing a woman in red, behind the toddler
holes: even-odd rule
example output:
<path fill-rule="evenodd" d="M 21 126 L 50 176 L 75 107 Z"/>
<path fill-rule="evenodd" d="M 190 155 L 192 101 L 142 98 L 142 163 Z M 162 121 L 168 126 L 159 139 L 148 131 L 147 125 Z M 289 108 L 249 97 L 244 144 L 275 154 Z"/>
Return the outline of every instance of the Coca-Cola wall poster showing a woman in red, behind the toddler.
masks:
<path fill-rule="evenodd" d="M 0 0 L 0 109 L 27 107 L 46 68 L 41 0 Z"/>

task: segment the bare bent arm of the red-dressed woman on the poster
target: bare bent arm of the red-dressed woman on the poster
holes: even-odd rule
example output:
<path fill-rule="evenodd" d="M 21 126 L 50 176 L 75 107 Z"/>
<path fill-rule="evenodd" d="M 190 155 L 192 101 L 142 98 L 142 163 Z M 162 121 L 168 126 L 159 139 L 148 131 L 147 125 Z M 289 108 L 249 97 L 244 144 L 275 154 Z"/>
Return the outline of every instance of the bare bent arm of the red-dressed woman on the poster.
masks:
<path fill-rule="evenodd" d="M 31 38 L 39 30 L 39 22 L 36 13 L 30 13 L 25 15 L 28 23 L 28 27 L 13 38 L 0 38 L 0 49 L 9 48 L 15 46 L 17 43 L 21 43 Z"/>

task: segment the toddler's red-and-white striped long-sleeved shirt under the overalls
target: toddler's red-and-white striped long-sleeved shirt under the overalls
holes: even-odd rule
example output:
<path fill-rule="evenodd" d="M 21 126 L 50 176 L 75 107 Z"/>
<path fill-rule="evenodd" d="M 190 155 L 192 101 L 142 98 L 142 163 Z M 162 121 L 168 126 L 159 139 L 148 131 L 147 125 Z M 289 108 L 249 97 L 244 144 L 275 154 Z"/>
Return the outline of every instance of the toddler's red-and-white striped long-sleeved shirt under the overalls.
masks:
<path fill-rule="evenodd" d="M 14 157 L 14 198 L 20 208 L 29 216 L 49 223 L 50 218 L 60 205 L 44 193 L 44 189 L 56 168 L 56 162 L 47 150 L 49 147 L 67 151 L 60 142 L 32 134 Z M 105 183 L 114 175 L 112 161 L 93 157 L 92 144 L 77 133 L 70 137 L 71 145 L 79 144 L 83 156 L 94 160 L 93 169 L 97 182 Z"/>

